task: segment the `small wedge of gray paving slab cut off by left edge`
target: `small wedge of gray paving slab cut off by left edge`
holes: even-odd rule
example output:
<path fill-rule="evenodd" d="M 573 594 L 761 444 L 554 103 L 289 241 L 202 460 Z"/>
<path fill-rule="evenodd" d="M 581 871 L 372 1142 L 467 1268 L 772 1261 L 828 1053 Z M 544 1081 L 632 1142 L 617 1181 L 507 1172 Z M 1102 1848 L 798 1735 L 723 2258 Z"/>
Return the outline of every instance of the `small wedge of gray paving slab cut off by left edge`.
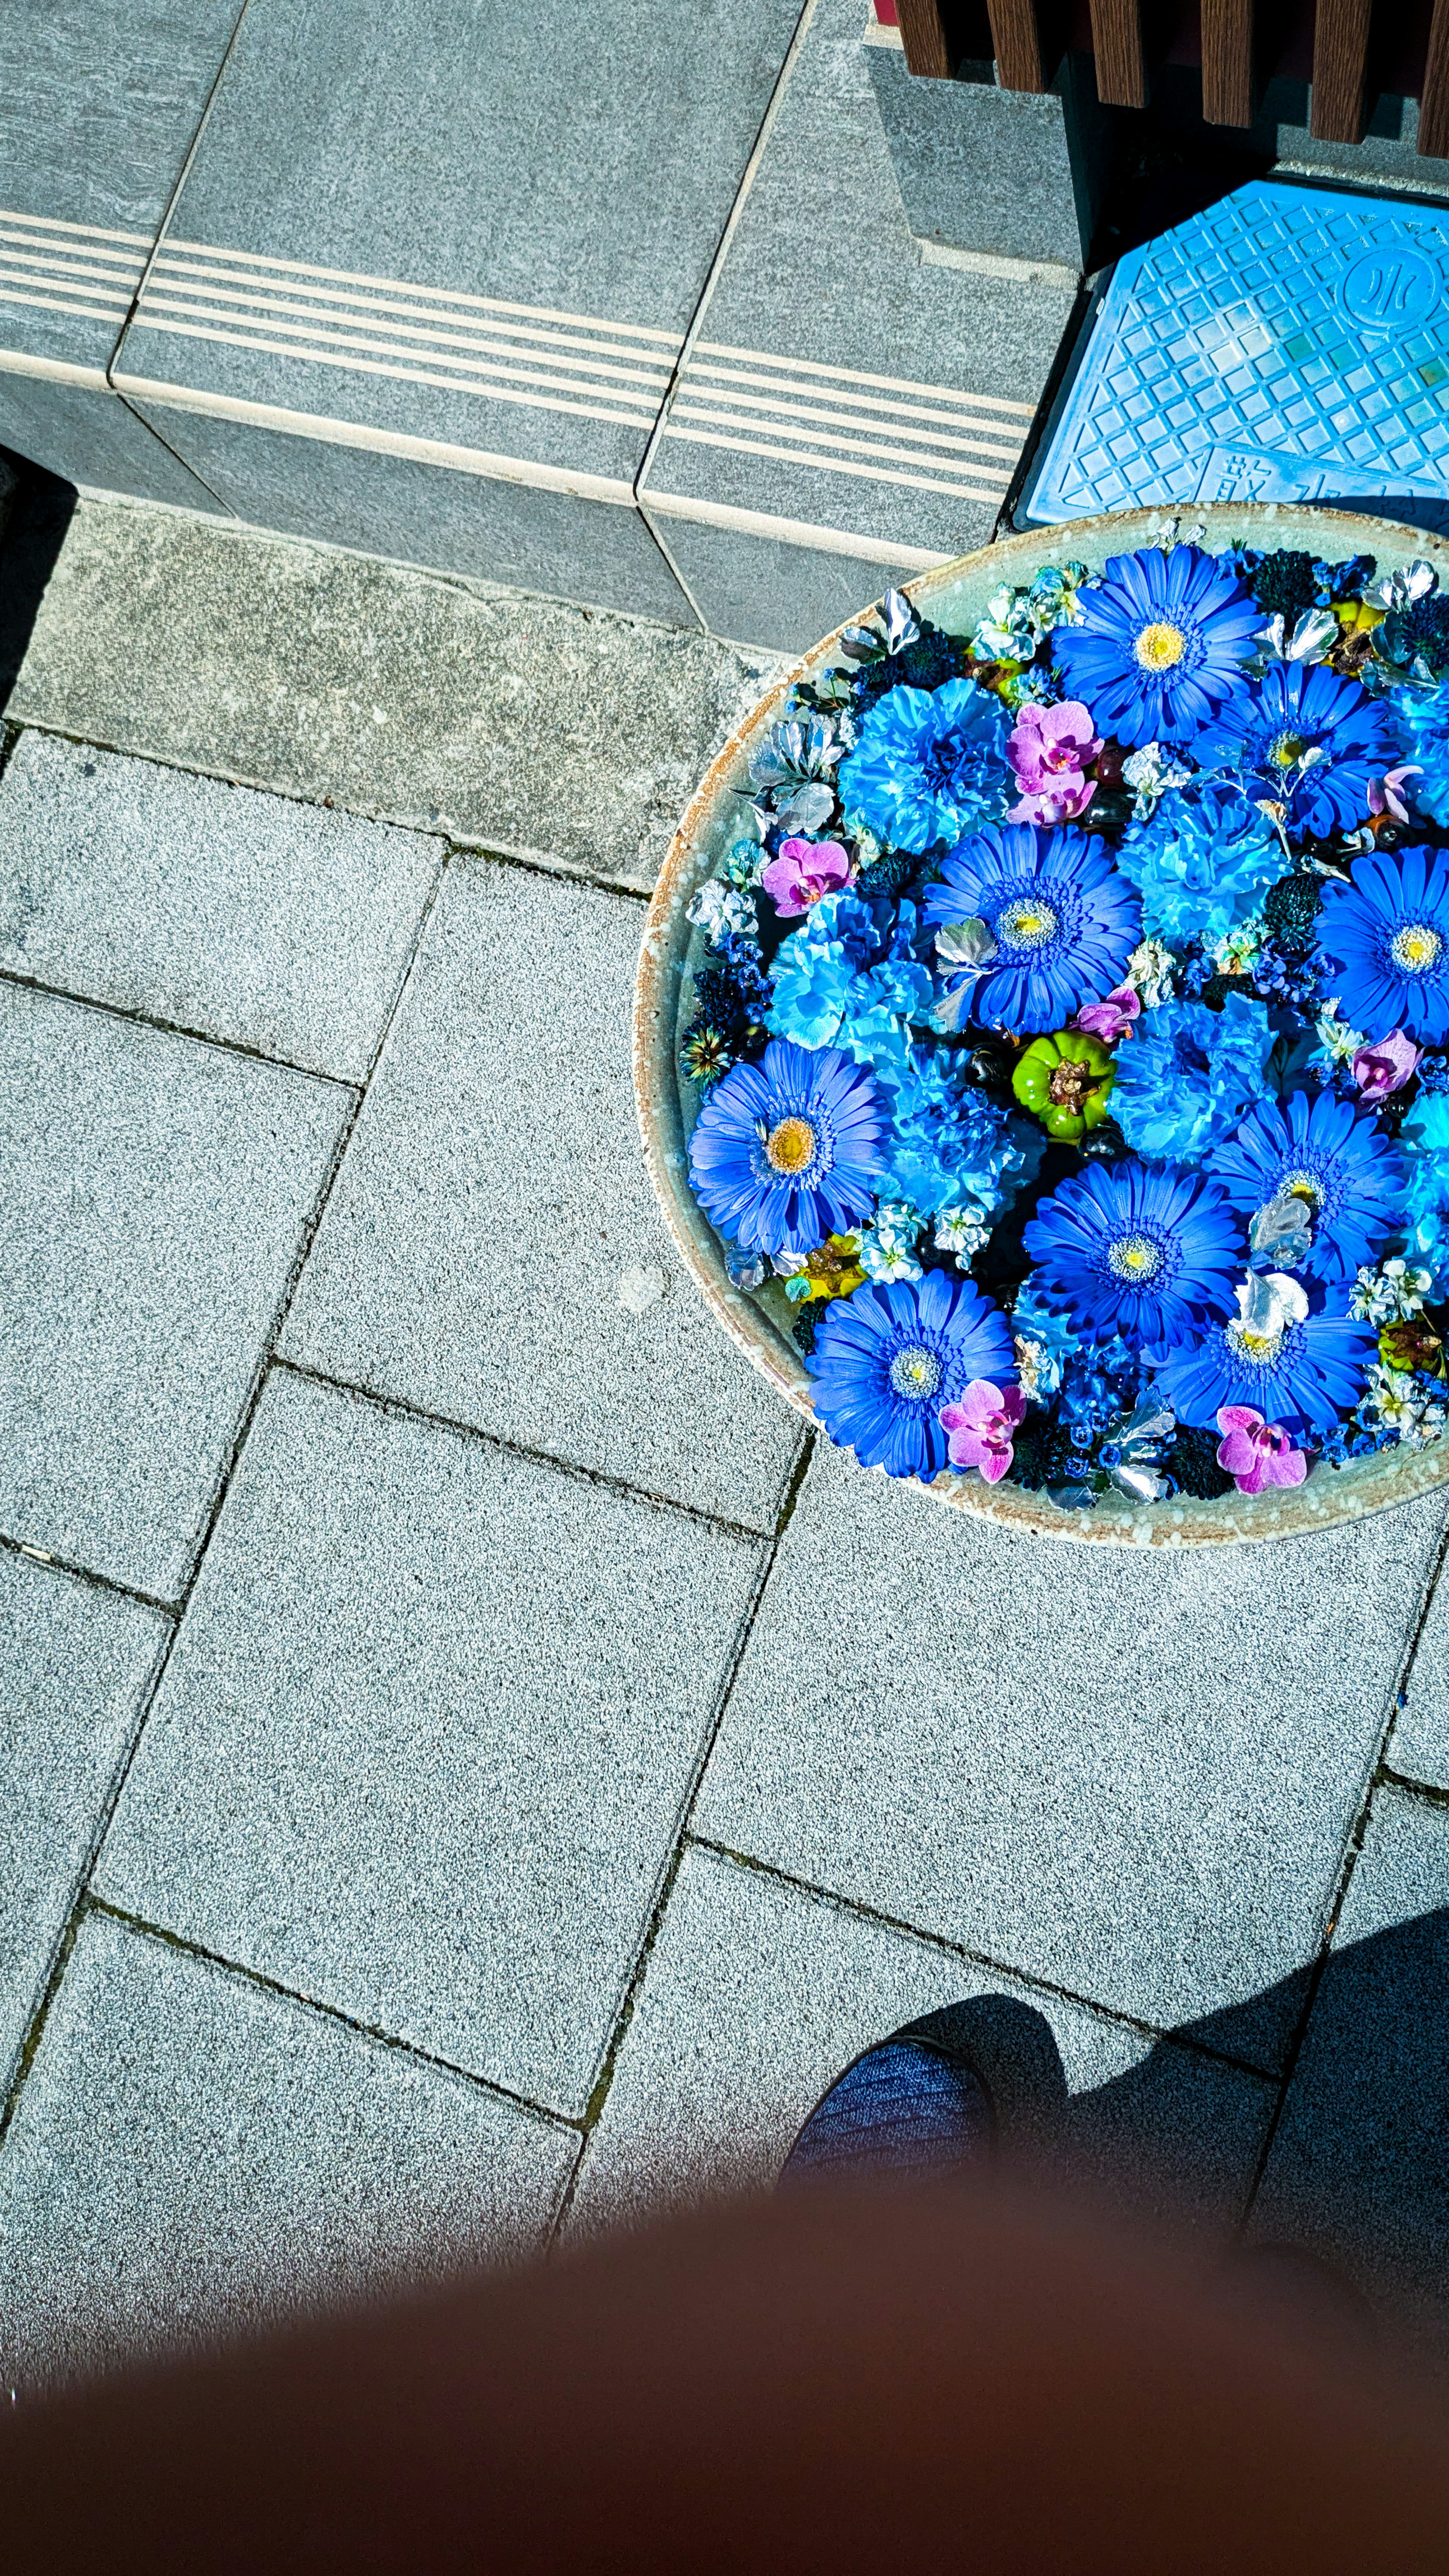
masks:
<path fill-rule="evenodd" d="M 0 2099 L 168 1620 L 0 1551 Z"/>

